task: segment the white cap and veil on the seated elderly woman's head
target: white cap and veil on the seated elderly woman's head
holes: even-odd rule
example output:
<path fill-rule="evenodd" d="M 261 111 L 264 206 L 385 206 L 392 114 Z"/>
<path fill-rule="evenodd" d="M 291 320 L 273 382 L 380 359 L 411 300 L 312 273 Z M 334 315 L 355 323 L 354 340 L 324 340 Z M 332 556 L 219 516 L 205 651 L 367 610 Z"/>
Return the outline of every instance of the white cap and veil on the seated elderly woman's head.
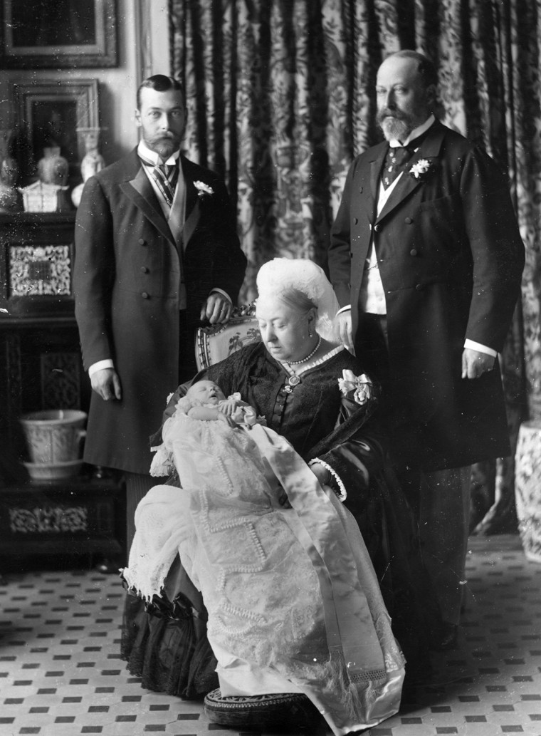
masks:
<path fill-rule="evenodd" d="M 320 266 L 307 258 L 273 258 L 257 274 L 258 298 L 278 297 L 286 289 L 306 294 L 318 308 L 315 328 L 323 339 L 338 344 L 334 318 L 340 306 L 334 289 Z"/>

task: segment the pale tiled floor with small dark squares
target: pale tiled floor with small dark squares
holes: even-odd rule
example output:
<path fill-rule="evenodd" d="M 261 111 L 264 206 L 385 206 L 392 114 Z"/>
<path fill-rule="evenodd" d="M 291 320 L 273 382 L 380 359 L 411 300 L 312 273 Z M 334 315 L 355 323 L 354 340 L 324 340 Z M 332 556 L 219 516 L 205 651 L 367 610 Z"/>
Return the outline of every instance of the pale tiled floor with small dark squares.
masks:
<path fill-rule="evenodd" d="M 118 657 L 123 590 L 115 576 L 5 578 L 0 736 L 239 734 L 210 724 L 201 704 L 142 690 L 126 673 Z M 419 690 L 418 705 L 371 729 L 372 736 L 541 736 L 541 565 L 525 559 L 517 537 L 474 537 L 468 580 L 459 651 L 434 658 L 434 682 Z"/>

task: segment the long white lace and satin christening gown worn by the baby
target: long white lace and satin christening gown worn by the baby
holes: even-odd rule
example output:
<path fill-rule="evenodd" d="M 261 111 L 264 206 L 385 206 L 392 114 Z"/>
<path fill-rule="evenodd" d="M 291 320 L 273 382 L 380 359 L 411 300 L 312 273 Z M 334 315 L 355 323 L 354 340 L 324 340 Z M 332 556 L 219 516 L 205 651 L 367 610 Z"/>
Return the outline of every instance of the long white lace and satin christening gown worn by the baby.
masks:
<path fill-rule="evenodd" d="M 152 600 L 179 553 L 223 696 L 304 693 L 337 736 L 393 715 L 404 659 L 351 514 L 276 432 L 193 420 L 183 403 L 162 429 L 182 487 L 140 503 L 126 583 Z"/>

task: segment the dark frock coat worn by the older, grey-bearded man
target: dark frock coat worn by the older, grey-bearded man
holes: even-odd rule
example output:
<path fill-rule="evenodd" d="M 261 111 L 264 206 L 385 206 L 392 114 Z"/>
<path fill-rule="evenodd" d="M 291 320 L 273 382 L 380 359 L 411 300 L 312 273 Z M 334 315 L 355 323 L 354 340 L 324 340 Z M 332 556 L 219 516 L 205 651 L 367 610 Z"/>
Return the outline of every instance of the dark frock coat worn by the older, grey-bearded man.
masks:
<path fill-rule="evenodd" d="M 329 272 L 351 304 L 355 350 L 381 381 L 398 467 L 438 470 L 509 454 L 498 366 L 462 379 L 471 339 L 500 352 L 524 246 L 506 180 L 484 152 L 435 121 L 376 216 L 387 142 L 354 160 L 332 227 Z M 416 178 L 419 160 L 428 170 Z M 426 168 L 426 165 L 421 165 Z M 388 359 L 359 307 L 371 231 L 387 302 Z"/>

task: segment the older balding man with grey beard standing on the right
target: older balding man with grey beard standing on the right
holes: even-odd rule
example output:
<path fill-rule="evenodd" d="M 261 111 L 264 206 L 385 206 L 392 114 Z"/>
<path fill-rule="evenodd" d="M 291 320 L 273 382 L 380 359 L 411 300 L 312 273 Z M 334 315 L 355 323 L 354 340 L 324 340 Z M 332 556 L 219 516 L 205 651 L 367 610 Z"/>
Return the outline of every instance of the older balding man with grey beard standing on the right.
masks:
<path fill-rule="evenodd" d="M 449 649 L 465 585 L 470 466 L 510 452 L 497 355 L 524 247 L 498 166 L 434 118 L 431 62 L 392 54 L 376 85 L 386 140 L 348 172 L 329 271 L 343 342 L 382 384 L 390 453 L 440 605 L 432 643 Z"/>

